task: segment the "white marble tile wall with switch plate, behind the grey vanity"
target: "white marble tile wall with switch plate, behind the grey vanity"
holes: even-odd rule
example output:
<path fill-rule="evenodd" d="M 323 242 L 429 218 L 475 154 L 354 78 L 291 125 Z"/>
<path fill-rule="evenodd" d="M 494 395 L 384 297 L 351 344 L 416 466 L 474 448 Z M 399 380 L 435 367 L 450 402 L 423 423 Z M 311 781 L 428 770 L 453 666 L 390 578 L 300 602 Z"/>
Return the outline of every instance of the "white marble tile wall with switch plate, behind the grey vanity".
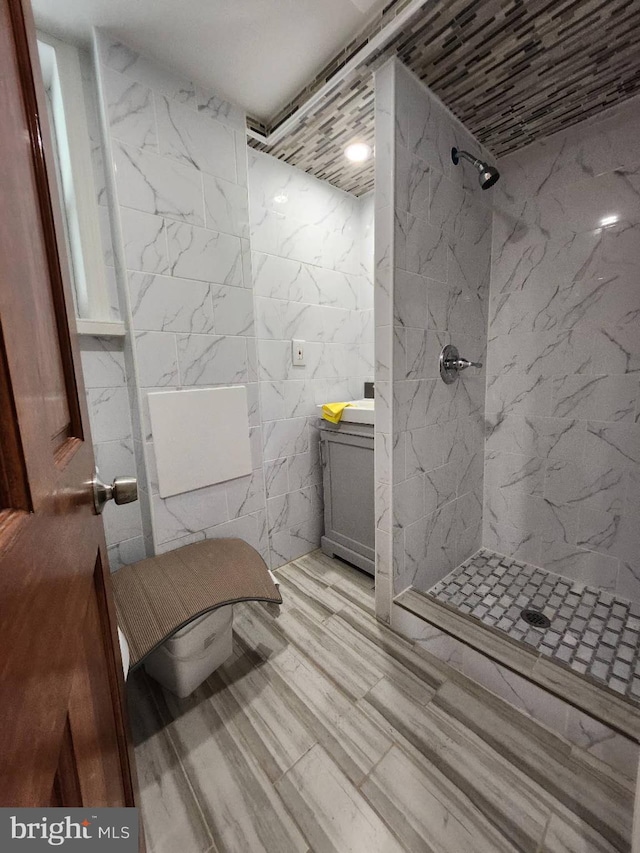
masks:
<path fill-rule="evenodd" d="M 264 478 L 271 565 L 320 544 L 317 406 L 373 378 L 373 198 L 249 151 Z M 292 340 L 306 364 L 292 363 Z"/>

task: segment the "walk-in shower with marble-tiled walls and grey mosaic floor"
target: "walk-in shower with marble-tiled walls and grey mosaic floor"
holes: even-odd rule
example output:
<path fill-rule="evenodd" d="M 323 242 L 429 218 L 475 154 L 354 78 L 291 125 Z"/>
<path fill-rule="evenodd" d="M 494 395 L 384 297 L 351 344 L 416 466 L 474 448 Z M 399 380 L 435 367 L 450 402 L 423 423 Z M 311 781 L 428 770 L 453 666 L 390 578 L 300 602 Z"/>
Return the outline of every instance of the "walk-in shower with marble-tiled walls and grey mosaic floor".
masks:
<path fill-rule="evenodd" d="M 379 613 L 412 587 L 631 700 L 639 124 L 632 101 L 496 160 L 400 62 L 376 73 Z M 482 369 L 442 383 L 446 343 Z"/>

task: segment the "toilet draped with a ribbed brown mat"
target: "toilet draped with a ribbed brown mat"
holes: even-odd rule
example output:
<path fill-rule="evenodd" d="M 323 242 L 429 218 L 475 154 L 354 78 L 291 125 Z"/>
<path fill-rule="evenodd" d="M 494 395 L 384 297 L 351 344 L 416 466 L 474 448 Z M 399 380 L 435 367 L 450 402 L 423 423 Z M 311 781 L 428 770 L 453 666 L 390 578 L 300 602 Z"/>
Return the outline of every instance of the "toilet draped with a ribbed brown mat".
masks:
<path fill-rule="evenodd" d="M 236 602 L 282 604 L 258 551 L 242 539 L 203 539 L 111 575 L 123 664 L 144 666 L 176 696 L 193 692 L 233 651 Z M 121 638 L 124 642 L 124 637 Z"/>

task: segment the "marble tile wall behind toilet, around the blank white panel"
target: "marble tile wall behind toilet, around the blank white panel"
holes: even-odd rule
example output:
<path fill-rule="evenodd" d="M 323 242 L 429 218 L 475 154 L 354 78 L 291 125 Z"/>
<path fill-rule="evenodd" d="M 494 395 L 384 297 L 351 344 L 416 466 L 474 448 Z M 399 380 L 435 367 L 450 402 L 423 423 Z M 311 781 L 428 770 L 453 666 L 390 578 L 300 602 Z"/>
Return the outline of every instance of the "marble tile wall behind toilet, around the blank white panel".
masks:
<path fill-rule="evenodd" d="M 268 557 L 244 114 L 104 33 L 97 46 L 151 550 L 240 536 Z M 253 473 L 160 498 L 147 394 L 228 384 L 247 387 Z"/>

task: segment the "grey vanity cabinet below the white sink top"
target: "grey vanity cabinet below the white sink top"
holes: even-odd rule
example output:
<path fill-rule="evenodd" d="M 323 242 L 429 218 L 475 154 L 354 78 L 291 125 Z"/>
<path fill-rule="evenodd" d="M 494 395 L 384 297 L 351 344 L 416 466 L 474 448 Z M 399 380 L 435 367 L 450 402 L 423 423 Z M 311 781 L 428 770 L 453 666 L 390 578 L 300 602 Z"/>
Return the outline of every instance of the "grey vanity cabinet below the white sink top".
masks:
<path fill-rule="evenodd" d="M 322 550 L 374 574 L 373 427 L 321 422 Z"/>

